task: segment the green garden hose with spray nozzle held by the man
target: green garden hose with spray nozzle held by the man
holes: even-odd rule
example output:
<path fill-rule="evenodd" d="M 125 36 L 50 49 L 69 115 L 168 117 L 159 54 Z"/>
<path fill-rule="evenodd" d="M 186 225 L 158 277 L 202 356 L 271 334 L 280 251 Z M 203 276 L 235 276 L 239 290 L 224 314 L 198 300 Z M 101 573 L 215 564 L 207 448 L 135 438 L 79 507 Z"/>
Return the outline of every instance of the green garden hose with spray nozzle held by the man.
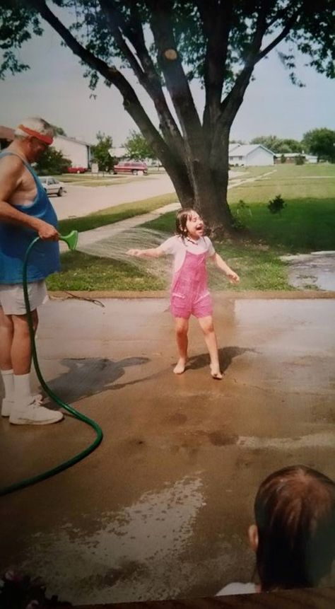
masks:
<path fill-rule="evenodd" d="M 72 231 L 69 235 L 66 235 L 64 237 L 61 236 L 60 238 L 61 238 L 61 240 L 66 241 L 66 243 L 69 245 L 69 248 L 71 250 L 74 250 L 76 247 L 77 240 L 78 240 L 78 232 Z M 42 472 L 42 473 L 32 476 L 30 478 L 25 478 L 25 480 L 19 480 L 18 482 L 14 482 L 13 485 L 9 485 L 8 487 L 4 487 L 4 488 L 0 489 L 0 497 L 3 495 L 6 495 L 6 494 L 12 493 L 14 491 L 18 491 L 19 489 L 23 489 L 30 485 L 35 485 L 36 482 L 41 482 L 42 480 L 46 480 L 46 478 L 59 474 L 59 472 L 62 472 L 64 470 L 66 470 L 67 468 L 71 468 L 72 465 L 75 465 L 75 463 L 78 463 L 78 461 L 80 461 L 81 459 L 84 459 L 90 453 L 92 453 L 95 450 L 95 448 L 97 448 L 99 446 L 100 442 L 102 441 L 102 437 L 103 437 L 102 429 L 98 425 L 98 423 L 93 421 L 93 419 L 89 419 L 88 417 L 85 416 L 85 414 L 78 412 L 78 410 L 75 410 L 74 408 L 69 406 L 69 404 L 66 404 L 66 402 L 63 402 L 60 398 L 58 398 L 58 396 L 52 391 L 52 389 L 49 388 L 49 386 L 45 382 L 45 379 L 42 376 L 42 372 L 40 371 L 40 365 L 39 365 L 38 359 L 37 359 L 35 332 L 34 332 L 34 328 L 33 328 L 33 318 L 32 318 L 31 311 L 30 311 L 28 285 L 27 285 L 27 265 L 28 265 L 30 251 L 33 249 L 35 243 L 37 243 L 37 241 L 39 241 L 39 240 L 40 240 L 40 237 L 36 237 L 32 241 L 32 243 L 30 243 L 30 245 L 25 253 L 25 260 L 23 262 L 23 294 L 24 294 L 24 298 L 25 298 L 25 308 L 27 311 L 31 350 L 32 350 L 33 362 L 34 362 L 37 378 L 40 381 L 42 388 L 45 390 L 45 393 L 47 393 L 47 395 L 49 395 L 49 397 L 52 398 L 52 400 L 54 400 L 54 402 L 56 402 L 59 406 L 61 406 L 62 408 L 64 408 L 68 412 L 70 412 L 70 414 L 73 414 L 74 417 L 76 417 L 76 419 L 79 419 L 80 421 L 83 421 L 84 423 L 90 425 L 90 427 L 93 427 L 93 429 L 95 430 L 95 433 L 96 433 L 96 437 L 95 437 L 95 441 L 92 444 L 90 444 L 90 446 L 88 446 L 88 448 L 85 448 L 85 450 L 83 450 L 81 453 L 78 453 L 78 455 L 72 457 L 71 459 L 64 461 L 64 463 L 60 463 L 55 468 L 52 468 L 51 470 L 47 470 L 45 472 Z"/>

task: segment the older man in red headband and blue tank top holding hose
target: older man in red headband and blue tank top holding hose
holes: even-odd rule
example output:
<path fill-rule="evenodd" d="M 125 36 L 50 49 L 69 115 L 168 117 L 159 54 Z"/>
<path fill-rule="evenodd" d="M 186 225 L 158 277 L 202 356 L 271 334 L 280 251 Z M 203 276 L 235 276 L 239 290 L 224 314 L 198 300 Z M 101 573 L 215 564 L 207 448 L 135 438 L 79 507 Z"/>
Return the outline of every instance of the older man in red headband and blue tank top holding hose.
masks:
<path fill-rule="evenodd" d="M 37 306 L 47 298 L 45 278 L 59 270 L 57 216 L 30 163 L 52 144 L 52 126 L 26 119 L 0 153 L 0 370 L 1 414 L 16 425 L 45 425 L 63 418 L 41 405 L 30 389 L 31 346 L 22 287 L 25 252 L 38 235 L 28 264 L 28 293 L 36 330 Z"/>

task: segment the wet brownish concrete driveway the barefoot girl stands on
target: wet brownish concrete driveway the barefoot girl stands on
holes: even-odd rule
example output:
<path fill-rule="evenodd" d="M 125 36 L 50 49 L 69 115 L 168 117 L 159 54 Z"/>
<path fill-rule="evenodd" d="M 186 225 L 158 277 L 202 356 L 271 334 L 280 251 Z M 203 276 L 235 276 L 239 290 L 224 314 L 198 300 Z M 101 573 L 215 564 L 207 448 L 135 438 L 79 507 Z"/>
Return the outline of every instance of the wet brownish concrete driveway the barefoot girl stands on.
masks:
<path fill-rule="evenodd" d="M 172 373 L 166 298 L 41 308 L 45 377 L 105 438 L 1 499 L 0 569 L 40 575 L 78 604 L 212 596 L 250 581 L 247 526 L 269 472 L 304 463 L 334 477 L 335 299 L 214 299 L 223 381 L 195 320 L 189 367 Z M 39 429 L 3 419 L 0 431 L 1 485 L 93 439 L 69 416 Z"/>

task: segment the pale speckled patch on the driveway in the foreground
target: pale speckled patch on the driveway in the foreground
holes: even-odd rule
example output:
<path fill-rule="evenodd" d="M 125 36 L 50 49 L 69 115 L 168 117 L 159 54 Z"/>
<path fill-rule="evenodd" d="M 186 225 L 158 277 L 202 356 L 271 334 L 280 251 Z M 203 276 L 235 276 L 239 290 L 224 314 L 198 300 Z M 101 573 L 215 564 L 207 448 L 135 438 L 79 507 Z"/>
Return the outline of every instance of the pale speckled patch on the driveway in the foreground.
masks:
<path fill-rule="evenodd" d="M 146 492 L 131 506 L 102 513 L 100 530 L 94 533 L 67 523 L 52 534 L 32 535 L 34 552 L 20 567 L 52 579 L 52 587 L 73 603 L 177 596 L 178 557 L 192 540 L 205 501 L 198 478 L 166 484 L 166 489 Z"/>

